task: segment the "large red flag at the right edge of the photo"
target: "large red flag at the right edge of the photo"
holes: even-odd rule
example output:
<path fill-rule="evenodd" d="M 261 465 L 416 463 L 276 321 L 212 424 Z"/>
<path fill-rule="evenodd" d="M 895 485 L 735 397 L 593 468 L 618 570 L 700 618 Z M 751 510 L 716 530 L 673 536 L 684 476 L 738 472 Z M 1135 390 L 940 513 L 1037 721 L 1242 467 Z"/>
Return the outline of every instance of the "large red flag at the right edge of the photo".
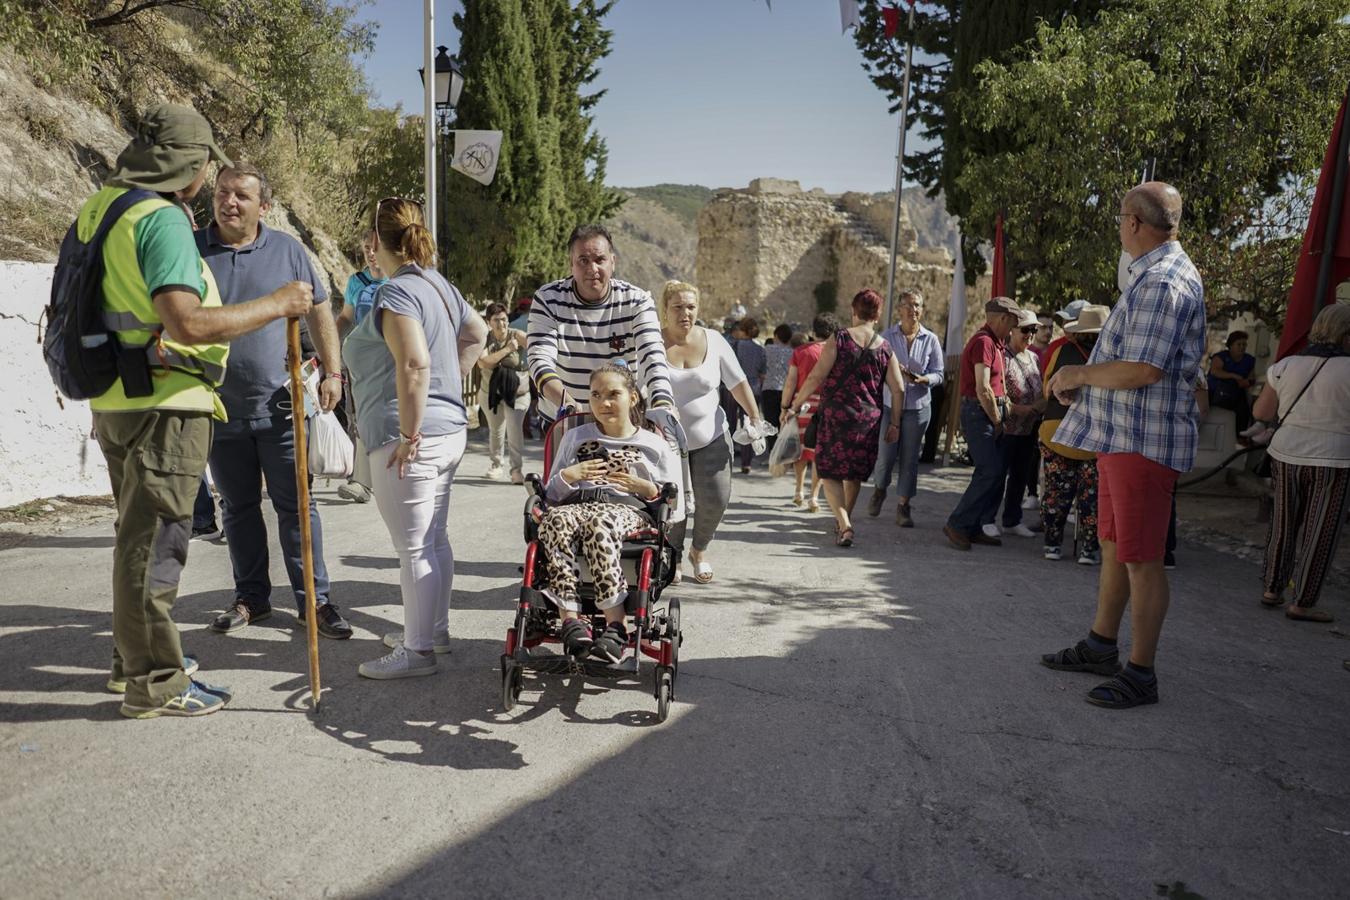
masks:
<path fill-rule="evenodd" d="M 1346 100 L 1342 99 L 1336 124 L 1331 130 L 1331 142 L 1327 144 L 1327 155 L 1322 161 L 1318 193 L 1312 198 L 1312 215 L 1303 235 L 1299 267 L 1293 273 L 1293 289 L 1289 291 L 1289 308 L 1285 312 L 1284 331 L 1280 333 L 1277 359 L 1303 349 L 1308 343 L 1312 320 L 1323 306 L 1335 300 L 1336 285 L 1350 278 L 1350 205 L 1347 205 L 1350 190 L 1346 190 L 1345 185 L 1350 177 L 1346 161 L 1346 139 L 1350 135 L 1343 132 L 1345 117 Z M 1339 185 L 1336 185 L 1338 174 Z M 1338 186 L 1339 196 L 1336 196 Z M 1331 228 L 1335 228 L 1335 233 L 1328 231 Z M 1322 273 L 1323 266 L 1327 270 L 1326 275 Z"/>

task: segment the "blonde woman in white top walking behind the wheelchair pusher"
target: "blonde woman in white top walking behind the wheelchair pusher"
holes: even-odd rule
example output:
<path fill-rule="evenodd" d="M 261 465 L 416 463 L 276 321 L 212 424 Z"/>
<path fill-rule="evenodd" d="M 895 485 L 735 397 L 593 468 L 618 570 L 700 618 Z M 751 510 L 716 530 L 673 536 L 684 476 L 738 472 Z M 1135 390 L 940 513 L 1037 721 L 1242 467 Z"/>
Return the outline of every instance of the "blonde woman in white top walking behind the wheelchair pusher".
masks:
<path fill-rule="evenodd" d="M 713 567 L 703 555 L 732 498 L 732 436 L 726 413 L 718 403 L 718 387 L 732 391 L 752 421 L 761 421 L 761 416 L 732 345 L 717 332 L 695 324 L 698 287 L 680 281 L 666 282 L 662 317 L 662 340 L 675 407 L 688 437 L 688 471 L 694 488 L 694 536 L 688 561 L 694 564 L 694 579 L 707 584 L 713 580 Z"/>

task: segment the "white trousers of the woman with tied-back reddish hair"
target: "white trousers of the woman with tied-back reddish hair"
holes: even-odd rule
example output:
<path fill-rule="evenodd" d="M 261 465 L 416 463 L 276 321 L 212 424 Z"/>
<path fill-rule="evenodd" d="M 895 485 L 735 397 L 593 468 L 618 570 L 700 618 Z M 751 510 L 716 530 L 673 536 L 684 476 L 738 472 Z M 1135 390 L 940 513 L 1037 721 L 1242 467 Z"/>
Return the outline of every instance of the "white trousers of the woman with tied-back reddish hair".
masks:
<path fill-rule="evenodd" d="M 404 645 L 429 653 L 432 636 L 450 626 L 450 591 L 455 580 L 455 555 L 446 524 L 450 488 L 464 457 L 467 434 L 424 437 L 417 459 L 398 478 L 389 468 L 397 441 L 370 452 L 375 506 L 398 553 L 398 582 L 404 595 Z"/>

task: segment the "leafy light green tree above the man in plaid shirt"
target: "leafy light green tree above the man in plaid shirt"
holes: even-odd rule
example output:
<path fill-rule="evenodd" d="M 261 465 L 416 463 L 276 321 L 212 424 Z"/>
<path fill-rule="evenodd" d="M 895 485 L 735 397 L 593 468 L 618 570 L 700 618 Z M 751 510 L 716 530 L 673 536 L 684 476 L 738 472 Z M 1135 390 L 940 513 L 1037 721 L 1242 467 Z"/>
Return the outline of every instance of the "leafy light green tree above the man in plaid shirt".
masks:
<path fill-rule="evenodd" d="M 1007 212 L 1023 291 L 1114 298 L 1114 216 L 1153 161 L 1185 200 L 1211 314 L 1277 325 L 1350 81 L 1343 13 L 1334 0 L 1134 0 L 1042 24 L 1018 59 L 981 63 L 969 125 L 1011 140 L 957 184 L 976 221 Z"/>

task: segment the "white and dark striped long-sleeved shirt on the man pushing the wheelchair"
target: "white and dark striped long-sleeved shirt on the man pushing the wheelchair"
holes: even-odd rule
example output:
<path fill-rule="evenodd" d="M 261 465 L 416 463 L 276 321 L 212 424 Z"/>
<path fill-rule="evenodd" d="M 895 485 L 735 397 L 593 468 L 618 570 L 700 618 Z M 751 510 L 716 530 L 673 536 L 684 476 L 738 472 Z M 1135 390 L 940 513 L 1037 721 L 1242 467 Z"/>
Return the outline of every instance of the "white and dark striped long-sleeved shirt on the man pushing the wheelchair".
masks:
<path fill-rule="evenodd" d="M 647 402 L 674 402 L 656 304 L 625 281 L 612 279 L 609 296 L 597 304 L 583 301 L 571 278 L 540 287 L 529 308 L 525 352 L 535 385 L 543 390 L 559 379 L 580 410 L 590 409 L 591 372 L 612 359 L 624 359 L 637 374 Z"/>

